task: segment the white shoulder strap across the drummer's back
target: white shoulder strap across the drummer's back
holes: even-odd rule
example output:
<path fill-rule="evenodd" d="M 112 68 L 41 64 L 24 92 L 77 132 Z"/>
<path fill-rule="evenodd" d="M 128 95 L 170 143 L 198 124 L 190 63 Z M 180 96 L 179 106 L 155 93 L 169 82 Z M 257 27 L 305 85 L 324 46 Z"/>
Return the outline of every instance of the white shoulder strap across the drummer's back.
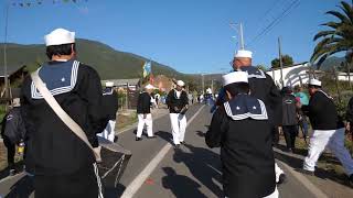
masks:
<path fill-rule="evenodd" d="M 51 95 L 44 82 L 39 76 L 39 70 L 35 70 L 31 74 L 32 80 L 39 91 L 42 94 L 44 100 L 47 105 L 53 109 L 53 111 L 57 114 L 57 117 L 71 129 L 73 133 L 75 133 L 82 141 L 84 141 L 87 146 L 94 152 L 96 160 L 100 158 L 100 155 L 94 150 L 88 142 L 86 133 L 82 130 L 82 128 L 62 109 L 62 107 L 57 103 L 55 98 Z M 98 155 L 98 156 L 97 156 Z"/>

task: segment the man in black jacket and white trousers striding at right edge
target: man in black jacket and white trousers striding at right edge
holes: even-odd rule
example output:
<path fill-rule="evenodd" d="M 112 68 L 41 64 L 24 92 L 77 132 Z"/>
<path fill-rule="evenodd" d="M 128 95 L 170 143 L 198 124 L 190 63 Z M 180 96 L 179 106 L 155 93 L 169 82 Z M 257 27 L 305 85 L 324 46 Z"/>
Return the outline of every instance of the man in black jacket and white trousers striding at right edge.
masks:
<path fill-rule="evenodd" d="M 310 79 L 308 106 L 302 106 L 313 130 L 310 138 L 308 156 L 303 162 L 303 173 L 313 175 L 315 164 L 328 146 L 342 163 L 345 173 L 353 183 L 353 160 L 344 147 L 344 124 L 340 122 L 332 98 L 321 89 L 321 81 Z"/>

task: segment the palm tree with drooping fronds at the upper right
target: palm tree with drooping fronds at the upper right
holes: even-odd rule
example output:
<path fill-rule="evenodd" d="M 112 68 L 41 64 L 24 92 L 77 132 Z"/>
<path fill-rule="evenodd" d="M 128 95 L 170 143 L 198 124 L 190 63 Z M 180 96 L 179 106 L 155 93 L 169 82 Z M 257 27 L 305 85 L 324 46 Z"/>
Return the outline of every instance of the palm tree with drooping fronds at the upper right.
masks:
<path fill-rule="evenodd" d="M 329 30 L 319 32 L 313 41 L 319 41 L 310 58 L 318 68 L 331 55 L 346 53 L 346 62 L 352 62 L 353 48 L 353 7 L 349 2 L 341 1 L 341 11 L 328 11 L 327 14 L 335 16 L 336 21 L 330 21 L 322 25 Z"/>

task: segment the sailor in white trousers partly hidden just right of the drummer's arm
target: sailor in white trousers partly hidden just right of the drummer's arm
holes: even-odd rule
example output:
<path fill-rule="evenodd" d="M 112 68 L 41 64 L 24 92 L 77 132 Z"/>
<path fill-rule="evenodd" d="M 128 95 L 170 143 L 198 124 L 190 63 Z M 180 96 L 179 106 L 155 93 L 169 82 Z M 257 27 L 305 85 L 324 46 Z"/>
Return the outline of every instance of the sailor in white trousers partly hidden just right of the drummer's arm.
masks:
<path fill-rule="evenodd" d="M 114 82 L 107 81 L 106 88 L 103 90 L 103 108 L 109 120 L 106 129 L 98 136 L 101 136 L 110 142 L 115 142 L 115 125 L 118 111 L 118 95 L 114 90 Z"/>

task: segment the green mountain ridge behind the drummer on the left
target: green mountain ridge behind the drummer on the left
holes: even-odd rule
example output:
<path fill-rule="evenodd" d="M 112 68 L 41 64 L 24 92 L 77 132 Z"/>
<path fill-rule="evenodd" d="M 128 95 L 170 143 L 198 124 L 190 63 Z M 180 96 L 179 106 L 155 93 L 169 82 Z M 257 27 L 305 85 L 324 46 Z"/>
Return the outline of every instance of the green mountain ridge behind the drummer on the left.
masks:
<path fill-rule="evenodd" d="M 78 59 L 93 66 L 100 75 L 101 79 L 139 78 L 142 74 L 142 65 L 147 58 L 126 52 L 116 51 L 113 47 L 89 40 L 76 40 Z M 30 69 L 38 64 L 46 62 L 44 45 L 21 45 L 8 44 L 8 66 L 18 67 L 28 65 Z M 0 44 L 0 66 L 3 65 L 3 44 Z M 0 70 L 2 73 L 2 69 Z M 181 79 L 190 79 L 190 75 L 184 75 L 175 69 L 152 62 L 152 73 L 165 75 Z"/>

